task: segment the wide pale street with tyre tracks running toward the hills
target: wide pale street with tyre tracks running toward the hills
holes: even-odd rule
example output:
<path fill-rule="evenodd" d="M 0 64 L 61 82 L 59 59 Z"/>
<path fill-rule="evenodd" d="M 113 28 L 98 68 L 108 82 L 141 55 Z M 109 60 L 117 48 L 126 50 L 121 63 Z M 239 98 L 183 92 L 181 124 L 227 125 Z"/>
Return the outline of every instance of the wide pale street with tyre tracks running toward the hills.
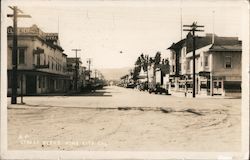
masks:
<path fill-rule="evenodd" d="M 239 151 L 241 99 L 184 98 L 108 86 L 10 105 L 9 149 Z"/>

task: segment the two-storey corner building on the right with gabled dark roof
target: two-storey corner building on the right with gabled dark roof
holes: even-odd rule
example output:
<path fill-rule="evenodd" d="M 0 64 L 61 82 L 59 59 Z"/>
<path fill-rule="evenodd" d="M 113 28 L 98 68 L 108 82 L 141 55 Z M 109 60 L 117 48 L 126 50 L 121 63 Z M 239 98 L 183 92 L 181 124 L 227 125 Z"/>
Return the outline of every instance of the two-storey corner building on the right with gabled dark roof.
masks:
<path fill-rule="evenodd" d="M 190 35 L 173 44 L 170 63 L 170 90 L 192 91 L 193 46 Z M 207 34 L 196 37 L 196 94 L 240 96 L 241 41 L 237 37 Z"/>

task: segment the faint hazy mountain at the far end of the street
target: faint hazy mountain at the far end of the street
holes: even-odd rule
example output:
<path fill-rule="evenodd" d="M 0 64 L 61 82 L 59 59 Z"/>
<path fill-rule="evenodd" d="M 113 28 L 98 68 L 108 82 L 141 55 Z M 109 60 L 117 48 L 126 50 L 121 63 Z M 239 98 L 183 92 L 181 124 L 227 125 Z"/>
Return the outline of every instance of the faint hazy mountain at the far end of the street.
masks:
<path fill-rule="evenodd" d="M 129 73 L 132 67 L 124 68 L 102 68 L 98 69 L 106 80 L 119 80 L 122 76 Z"/>

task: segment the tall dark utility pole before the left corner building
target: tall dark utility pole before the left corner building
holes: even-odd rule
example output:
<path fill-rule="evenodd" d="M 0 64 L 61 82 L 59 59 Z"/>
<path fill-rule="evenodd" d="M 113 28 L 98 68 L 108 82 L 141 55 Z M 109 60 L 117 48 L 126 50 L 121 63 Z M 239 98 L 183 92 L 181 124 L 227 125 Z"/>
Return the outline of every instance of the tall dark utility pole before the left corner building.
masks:
<path fill-rule="evenodd" d="M 23 18 L 30 18 L 30 15 L 18 15 L 18 12 L 23 13 L 20 9 L 17 8 L 17 6 L 9 6 L 10 9 L 13 10 L 13 14 L 7 14 L 7 17 L 13 17 L 13 46 L 12 46 L 12 78 L 11 78 L 11 104 L 17 103 L 17 18 L 23 17 Z M 22 76 L 22 75 L 21 75 Z M 22 79 L 22 77 L 21 77 Z M 23 82 L 21 82 L 23 83 Z M 21 87 L 23 87 L 21 85 Z M 21 100 L 23 103 L 23 95 L 22 95 L 21 88 Z"/>

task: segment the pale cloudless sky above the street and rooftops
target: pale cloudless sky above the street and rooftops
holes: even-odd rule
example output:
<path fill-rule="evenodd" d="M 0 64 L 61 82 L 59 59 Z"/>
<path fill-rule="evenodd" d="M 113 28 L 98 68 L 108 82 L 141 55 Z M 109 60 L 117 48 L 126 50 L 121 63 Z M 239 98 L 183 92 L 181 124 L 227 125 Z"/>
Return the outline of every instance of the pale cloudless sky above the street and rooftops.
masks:
<path fill-rule="evenodd" d="M 162 57 L 169 55 L 167 48 L 184 38 L 181 24 L 196 21 L 204 25 L 204 33 L 218 36 L 244 35 L 242 10 L 246 1 L 26 1 L 3 0 L 7 6 L 17 5 L 32 18 L 19 18 L 19 27 L 36 24 L 44 32 L 58 32 L 60 45 L 68 57 L 78 52 L 83 65 L 92 59 L 93 68 L 132 67 L 141 54 Z M 246 7 L 245 7 L 246 8 Z M 12 19 L 5 18 L 6 25 Z M 122 53 L 120 53 L 122 51 Z"/>

